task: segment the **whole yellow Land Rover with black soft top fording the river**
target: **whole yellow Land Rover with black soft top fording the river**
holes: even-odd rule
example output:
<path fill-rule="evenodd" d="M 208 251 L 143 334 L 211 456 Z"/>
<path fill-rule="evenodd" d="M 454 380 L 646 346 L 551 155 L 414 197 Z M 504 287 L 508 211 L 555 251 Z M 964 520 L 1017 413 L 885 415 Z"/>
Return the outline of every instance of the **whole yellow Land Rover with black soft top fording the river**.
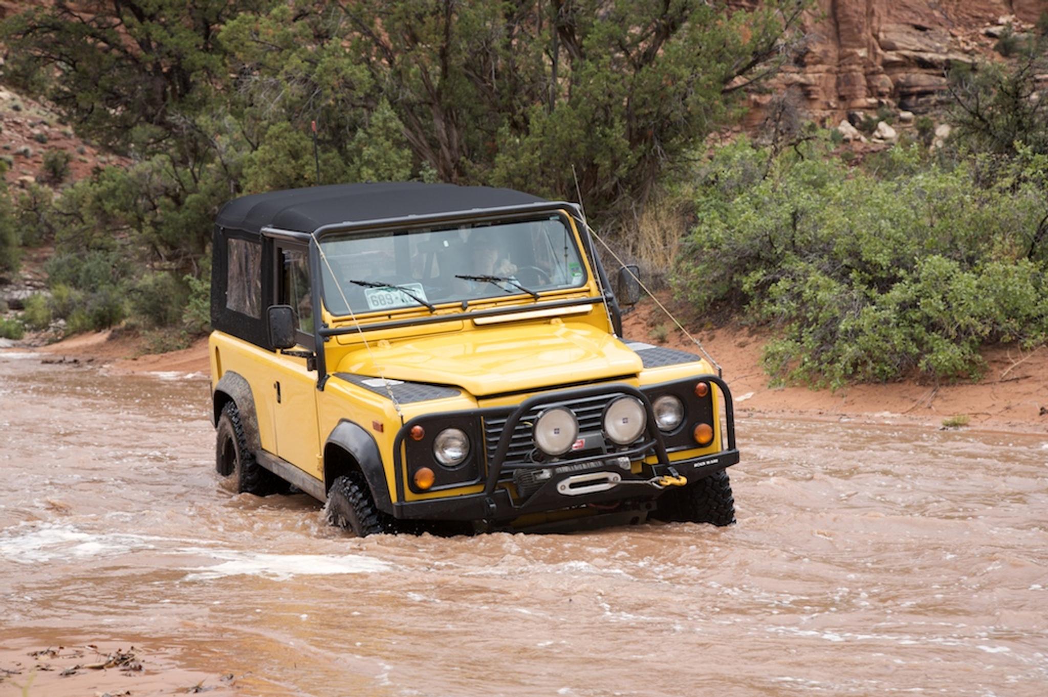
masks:
<path fill-rule="evenodd" d="M 216 464 L 357 536 L 734 522 L 732 398 L 711 363 L 621 337 L 574 203 L 361 183 L 218 214 Z M 721 413 L 723 406 L 724 413 Z"/>

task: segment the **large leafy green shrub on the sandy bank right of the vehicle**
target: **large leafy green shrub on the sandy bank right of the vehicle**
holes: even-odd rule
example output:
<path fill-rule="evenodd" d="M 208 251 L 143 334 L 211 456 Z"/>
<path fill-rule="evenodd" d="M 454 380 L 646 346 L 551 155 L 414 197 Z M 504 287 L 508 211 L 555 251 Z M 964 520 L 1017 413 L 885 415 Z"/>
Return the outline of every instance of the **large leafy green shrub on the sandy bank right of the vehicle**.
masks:
<path fill-rule="evenodd" d="M 976 377 L 983 344 L 1044 342 L 1044 158 L 980 189 L 976 168 L 940 168 L 922 152 L 894 148 L 848 170 L 818 148 L 803 158 L 745 140 L 720 149 L 702 173 L 677 292 L 699 312 L 779 327 L 764 366 L 787 383 Z M 739 161 L 767 176 L 725 187 Z"/>

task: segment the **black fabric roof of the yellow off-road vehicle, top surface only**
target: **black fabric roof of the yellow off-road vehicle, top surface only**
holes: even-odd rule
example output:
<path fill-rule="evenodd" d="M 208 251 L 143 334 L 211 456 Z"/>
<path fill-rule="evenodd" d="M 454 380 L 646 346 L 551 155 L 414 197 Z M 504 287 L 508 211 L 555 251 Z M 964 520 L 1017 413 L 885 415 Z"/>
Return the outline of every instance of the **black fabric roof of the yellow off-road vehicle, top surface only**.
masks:
<path fill-rule="evenodd" d="M 340 222 L 420 216 L 536 203 L 545 199 L 511 189 L 397 181 L 346 183 L 253 194 L 222 206 L 219 226 L 259 233 L 277 227 L 312 233 Z"/>

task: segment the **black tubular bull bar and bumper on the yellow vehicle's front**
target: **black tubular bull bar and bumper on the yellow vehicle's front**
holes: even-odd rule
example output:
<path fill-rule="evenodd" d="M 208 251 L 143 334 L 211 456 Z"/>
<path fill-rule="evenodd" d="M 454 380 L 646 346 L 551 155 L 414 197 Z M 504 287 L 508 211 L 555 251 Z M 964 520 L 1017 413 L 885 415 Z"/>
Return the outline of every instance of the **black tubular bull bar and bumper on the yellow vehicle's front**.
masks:
<path fill-rule="evenodd" d="M 627 498 L 654 498 L 658 496 L 661 492 L 657 487 L 640 486 L 640 484 L 649 483 L 650 476 L 645 477 L 643 474 L 633 475 L 632 473 L 624 473 L 621 483 L 608 491 L 572 497 L 565 497 L 560 494 L 555 488 L 559 478 L 551 477 L 539 491 L 520 503 L 512 500 L 512 497 L 509 496 L 509 492 L 505 487 L 500 488 L 498 486 L 514 430 L 525 414 L 537 405 L 555 406 L 562 401 L 599 394 L 625 394 L 639 399 L 643 405 L 648 417 L 646 426 L 647 438 L 638 444 L 631 445 L 629 450 L 608 453 L 602 456 L 589 455 L 567 460 L 559 459 L 555 462 L 544 465 L 536 464 L 533 465 L 536 469 L 570 467 L 572 464 L 596 460 L 608 461 L 624 456 L 629 457 L 632 461 L 643 459 L 654 454 L 658 458 L 658 463 L 645 465 L 651 469 L 651 476 L 679 475 L 686 477 L 689 481 L 694 481 L 695 479 L 700 479 L 738 463 L 739 450 L 735 441 L 735 409 L 732 404 L 732 391 L 724 380 L 713 374 L 696 375 L 689 377 L 689 380 L 713 383 L 724 396 L 724 421 L 727 432 L 726 449 L 696 458 L 670 462 L 662 433 L 655 423 L 655 413 L 652 410 L 651 399 L 649 399 L 645 392 L 631 385 L 605 383 L 560 392 L 544 392 L 522 401 L 506 418 L 495 455 L 487 462 L 487 476 L 482 478 L 484 482 L 483 492 L 405 501 L 406 464 L 402 456 L 405 438 L 411 432 L 412 427 L 433 418 L 434 414 L 416 416 L 397 431 L 396 438 L 393 441 L 393 465 L 397 493 L 397 501 L 393 504 L 393 515 L 398 519 L 410 520 L 508 521 L 529 513 L 555 510 L 587 503 L 609 503 Z M 461 415 L 463 418 L 478 418 L 482 417 L 486 411 L 495 410 L 475 409 L 461 412 L 444 412 L 441 416 Z M 463 485 L 471 485 L 473 483 L 478 482 L 466 482 Z M 623 486 L 623 484 L 626 484 L 626 486 Z"/>

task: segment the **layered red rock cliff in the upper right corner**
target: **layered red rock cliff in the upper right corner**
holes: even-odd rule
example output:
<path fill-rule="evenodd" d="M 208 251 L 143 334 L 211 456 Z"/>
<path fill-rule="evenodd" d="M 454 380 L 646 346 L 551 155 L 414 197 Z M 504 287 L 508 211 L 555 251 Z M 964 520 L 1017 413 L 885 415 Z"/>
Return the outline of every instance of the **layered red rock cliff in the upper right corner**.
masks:
<path fill-rule="evenodd" d="M 987 29 L 1031 24 L 1048 0 L 818 0 L 805 28 L 808 50 L 778 79 L 809 113 L 836 123 L 849 110 L 933 108 L 951 62 L 1000 58 Z M 772 90 L 776 91 L 776 90 Z M 761 106 L 768 96 L 755 95 Z"/>

